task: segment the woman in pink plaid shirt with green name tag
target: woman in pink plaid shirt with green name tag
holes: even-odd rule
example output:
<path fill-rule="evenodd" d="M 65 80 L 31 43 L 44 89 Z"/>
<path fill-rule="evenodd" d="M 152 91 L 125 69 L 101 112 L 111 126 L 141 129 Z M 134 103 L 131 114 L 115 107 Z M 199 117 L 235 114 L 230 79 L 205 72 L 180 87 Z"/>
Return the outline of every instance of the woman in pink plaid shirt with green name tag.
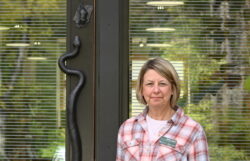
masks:
<path fill-rule="evenodd" d="M 147 61 L 139 74 L 137 99 L 146 105 L 120 127 L 116 161 L 208 161 L 201 125 L 177 106 L 180 81 L 162 58 Z"/>

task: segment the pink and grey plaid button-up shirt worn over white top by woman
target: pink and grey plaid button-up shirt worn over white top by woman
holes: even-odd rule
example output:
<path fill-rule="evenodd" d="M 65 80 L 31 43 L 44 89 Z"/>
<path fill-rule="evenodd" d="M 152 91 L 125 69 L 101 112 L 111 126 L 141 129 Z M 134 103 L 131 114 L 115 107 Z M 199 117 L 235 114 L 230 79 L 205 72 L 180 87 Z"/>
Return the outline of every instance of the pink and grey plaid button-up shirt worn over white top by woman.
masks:
<path fill-rule="evenodd" d="M 150 141 L 146 114 L 126 120 L 120 127 L 116 161 L 208 161 L 208 145 L 201 125 L 178 108 L 171 120 Z"/>

